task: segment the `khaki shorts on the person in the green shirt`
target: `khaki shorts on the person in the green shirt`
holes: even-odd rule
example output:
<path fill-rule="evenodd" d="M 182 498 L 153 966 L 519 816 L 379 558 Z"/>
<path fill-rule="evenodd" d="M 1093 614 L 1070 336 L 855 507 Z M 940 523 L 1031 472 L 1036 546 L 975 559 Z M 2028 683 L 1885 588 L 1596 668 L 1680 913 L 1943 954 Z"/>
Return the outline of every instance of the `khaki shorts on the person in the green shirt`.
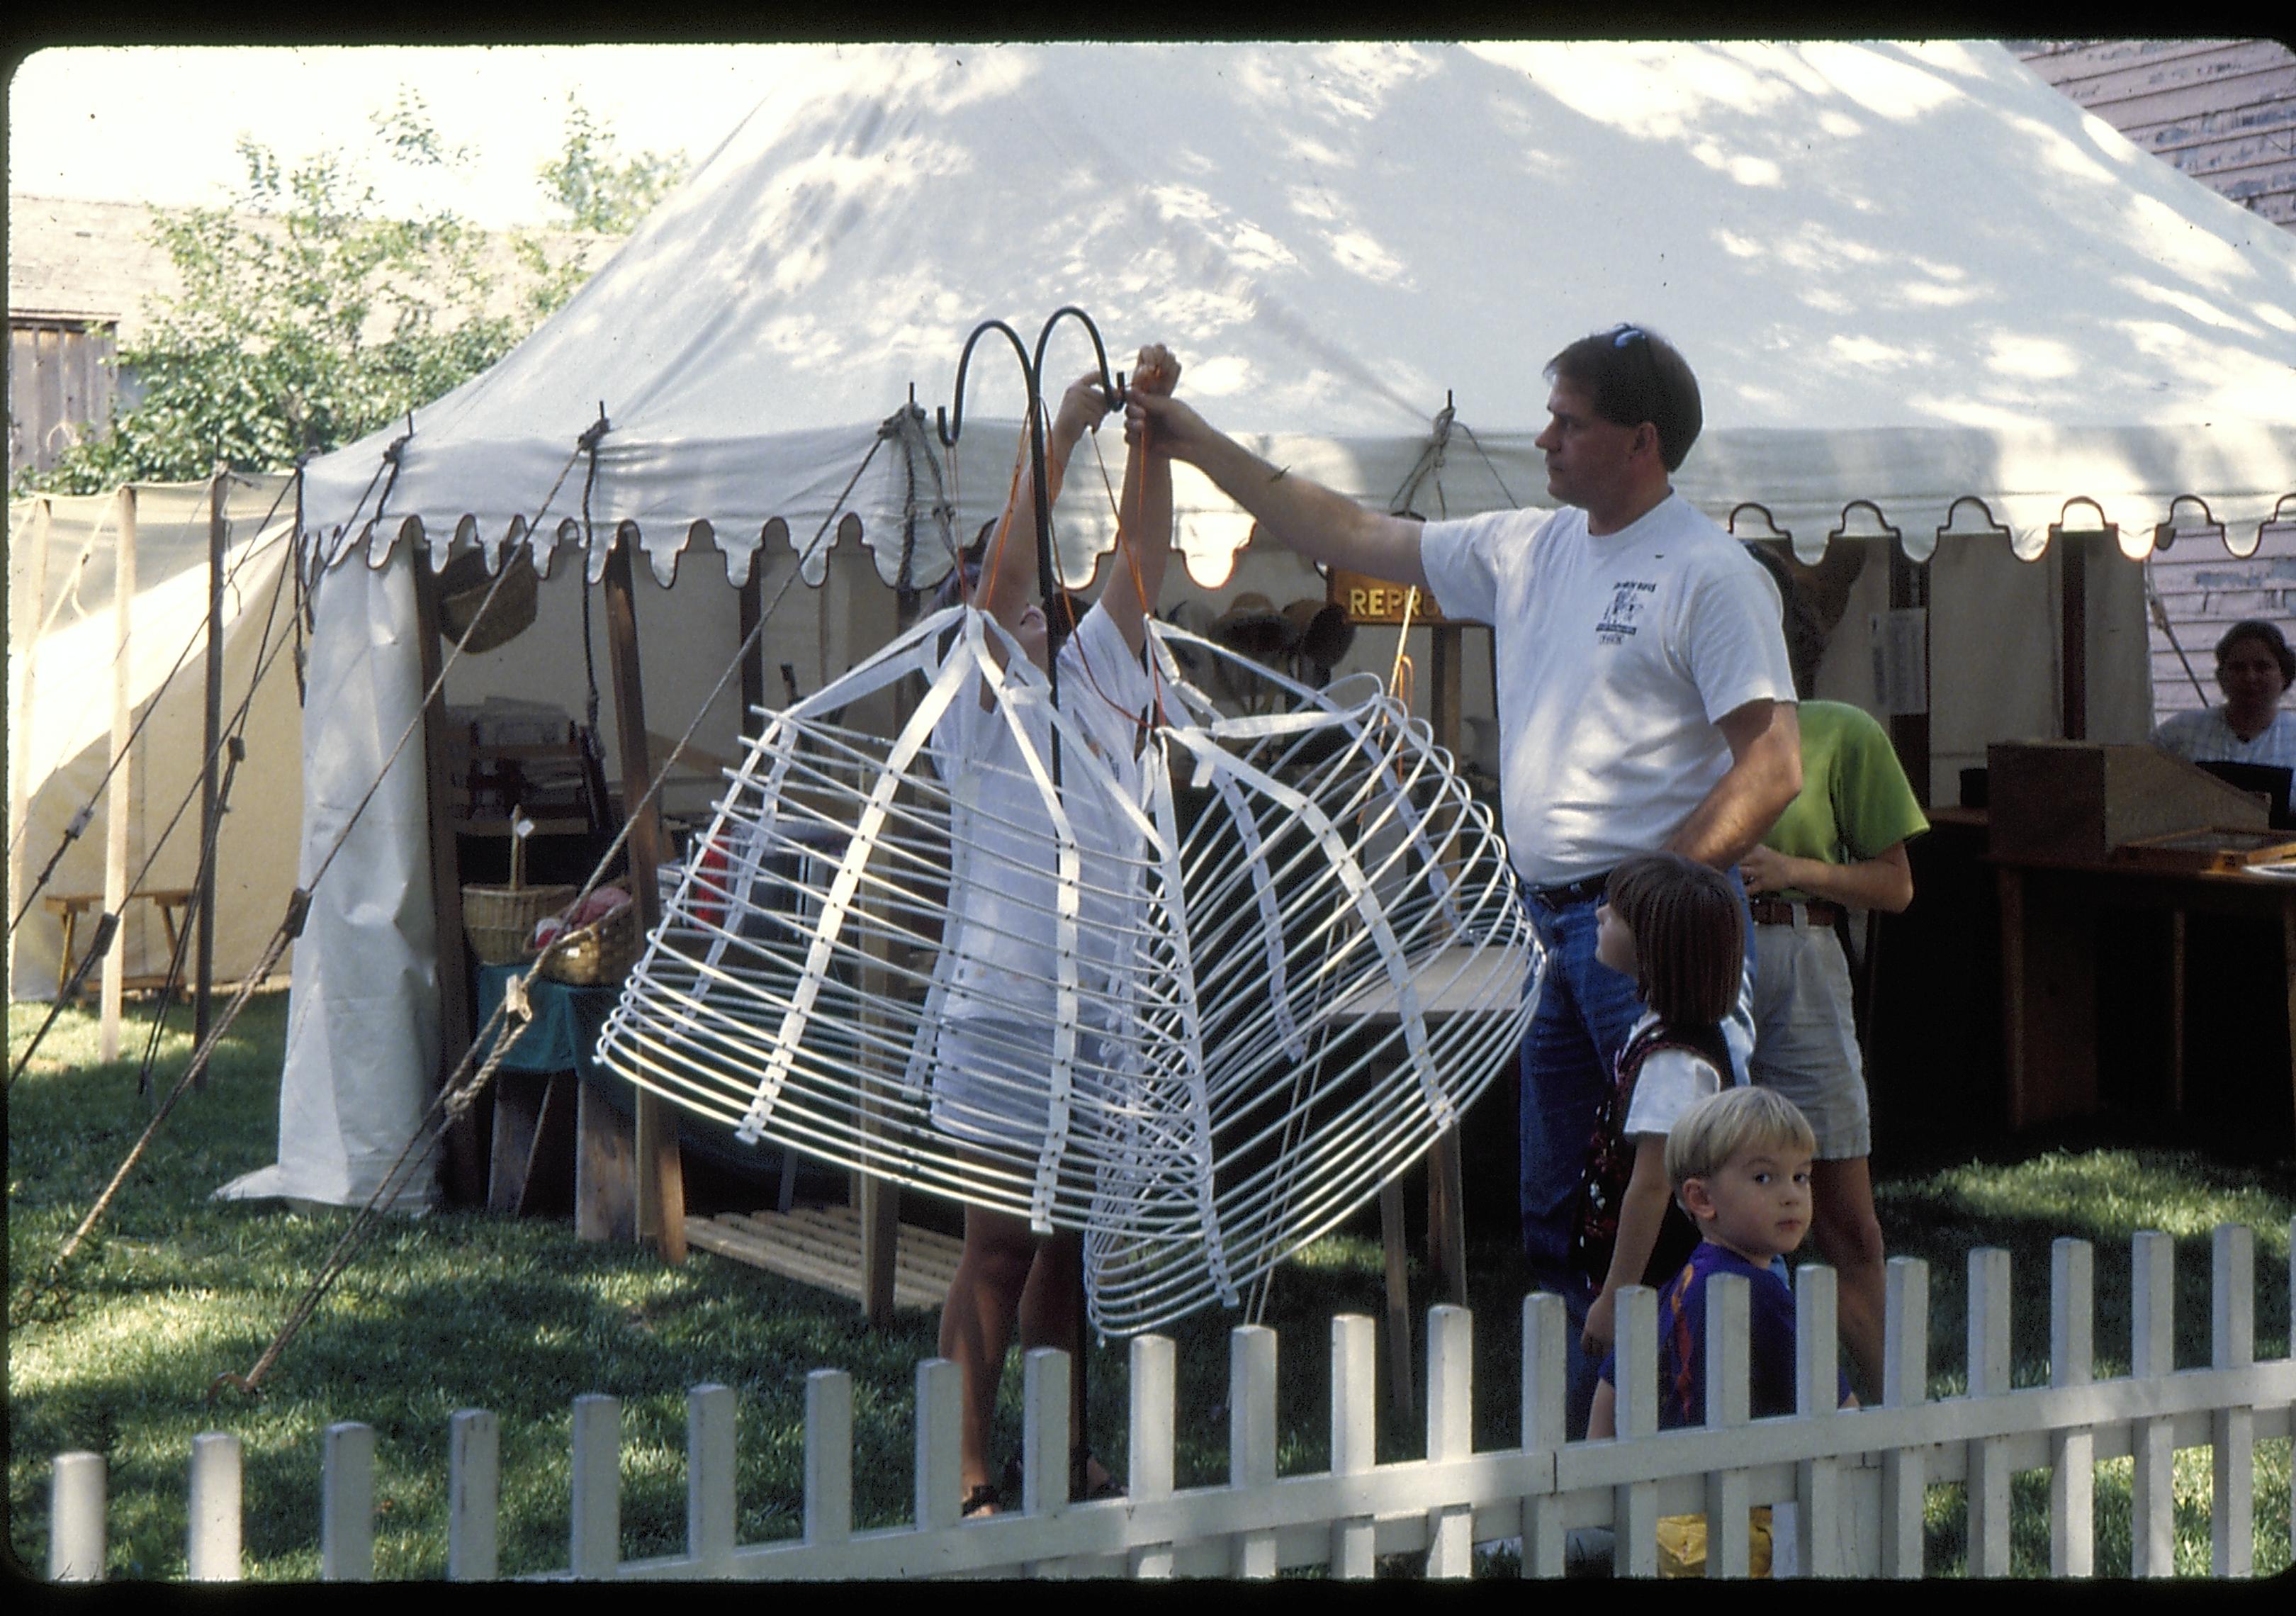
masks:
<path fill-rule="evenodd" d="M 1754 1058 L 1747 1077 L 1802 1109 L 1821 1162 L 1874 1155 L 1851 966 L 1830 925 L 1754 927 Z"/>

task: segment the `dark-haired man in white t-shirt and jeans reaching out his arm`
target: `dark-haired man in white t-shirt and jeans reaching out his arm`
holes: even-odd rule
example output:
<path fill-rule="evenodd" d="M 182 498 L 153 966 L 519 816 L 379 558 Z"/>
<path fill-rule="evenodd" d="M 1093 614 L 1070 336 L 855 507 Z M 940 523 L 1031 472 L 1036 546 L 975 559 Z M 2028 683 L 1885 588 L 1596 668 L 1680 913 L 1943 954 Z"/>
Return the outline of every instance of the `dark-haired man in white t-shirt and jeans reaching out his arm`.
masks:
<path fill-rule="evenodd" d="M 1699 434 L 1697 379 L 1667 342 L 1619 326 L 1545 370 L 1548 494 L 1564 510 L 1421 523 L 1270 466 L 1169 397 L 1127 422 L 1217 482 L 1274 542 L 1318 562 L 1419 585 L 1444 617 L 1492 624 L 1506 840 L 1548 946 L 1522 1044 L 1522 1246 L 1570 1306 L 1570 1425 L 1593 1364 L 1591 1297 L 1570 1265 L 1570 1205 L 1612 1060 L 1642 1015 L 1593 960 L 1612 865 L 1674 849 L 1729 870 L 1802 783 L 1777 585 L 1674 494 Z M 1747 948 L 1752 957 L 1752 948 Z M 1752 1017 L 1724 1028 L 1743 1065 Z"/>

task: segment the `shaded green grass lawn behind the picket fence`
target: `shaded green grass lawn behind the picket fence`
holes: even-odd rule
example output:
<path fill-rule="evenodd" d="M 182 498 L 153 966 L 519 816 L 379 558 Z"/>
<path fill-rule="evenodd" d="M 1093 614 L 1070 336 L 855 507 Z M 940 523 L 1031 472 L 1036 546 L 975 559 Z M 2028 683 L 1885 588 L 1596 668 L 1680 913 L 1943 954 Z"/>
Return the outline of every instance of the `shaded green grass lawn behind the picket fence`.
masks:
<path fill-rule="evenodd" d="M 684 1547 L 684 1393 L 714 1380 L 739 1393 L 744 1543 L 794 1536 L 804 1510 L 804 1375 L 854 1375 L 856 1524 L 907 1520 L 912 1373 L 934 1350 L 934 1315 L 900 1313 L 866 1329 L 854 1304 L 758 1269 L 693 1253 L 666 1267 L 636 1246 L 583 1244 L 567 1219 L 468 1212 L 388 1219 L 269 1373 L 262 1396 L 223 1391 L 246 1373 L 326 1260 L 351 1212 L 216 1203 L 209 1191 L 273 1159 L 285 994 L 257 999 L 218 1051 L 204 1093 L 186 1095 L 131 1175 L 96 1237 L 57 1283 L 51 1258 L 142 1132 L 152 1102 L 135 1060 L 96 1063 L 94 1017 L 67 1012 L 9 1093 L 9 1549 L 46 1568 L 48 1462 L 103 1453 L 110 1471 L 110 1577 L 184 1575 L 191 1439 L 232 1430 L 246 1451 L 246 1561 L 264 1582 L 317 1575 L 321 1432 L 374 1425 L 377 1570 L 445 1570 L 448 1416 L 494 1409 L 503 1442 L 505 1575 L 567 1561 L 569 1405 L 622 1398 L 622 1554 Z M 46 1005 L 11 1005 L 9 1058 Z M 142 1033 L 126 1044 L 140 1054 Z M 158 1086 L 188 1058 L 163 1044 Z M 2193 1152 L 2085 1150 L 1931 1166 L 1876 1180 L 1892 1251 L 1931 1265 L 1931 1393 L 1963 1386 L 1963 1262 L 2004 1246 L 2016 1265 L 2016 1384 L 2048 1375 L 2048 1246 L 2096 1242 L 2099 1373 L 2126 1370 L 2128 1235 L 2177 1240 L 2179 1364 L 2209 1357 L 2209 1230 L 2257 1233 L 2257 1354 L 2287 1354 L 2287 1164 L 2234 1168 Z M 760 1201 L 765 1191 L 760 1191 Z M 1520 1265 L 1508 1242 L 1469 1251 L 1476 1306 L 1476 1444 L 1518 1439 Z M 1426 1295 L 1421 1285 L 1419 1295 Z M 1329 1453 L 1332 1313 L 1378 1315 L 1378 1242 L 1343 1233 L 1309 1249 L 1274 1285 L 1283 1471 Z M 1235 1315 L 1173 1327 L 1180 1345 L 1180 1485 L 1226 1474 L 1226 1336 Z M 1095 1446 L 1123 1471 L 1125 1354 L 1088 1368 Z M 1019 1368 L 1006 1384 L 1003 1442 L 1019 1444 Z M 1382 1435 L 1384 1458 L 1419 1451 Z M 2048 1572 L 2046 1476 L 2018 1481 L 2016 1570 Z M 2179 1570 L 2209 1568 L 2209 1455 L 2177 1467 Z M 1958 1487 L 1929 1494 L 1929 1566 L 1961 1570 Z M 2128 1464 L 2096 1476 L 2099 1572 L 2128 1568 Z M 2289 1566 L 2289 1444 L 2257 1444 L 2257 1570 Z M 1403 1570 L 1403 1568 L 1398 1568 Z M 1492 1570 L 1506 1570 L 1497 1563 Z"/>

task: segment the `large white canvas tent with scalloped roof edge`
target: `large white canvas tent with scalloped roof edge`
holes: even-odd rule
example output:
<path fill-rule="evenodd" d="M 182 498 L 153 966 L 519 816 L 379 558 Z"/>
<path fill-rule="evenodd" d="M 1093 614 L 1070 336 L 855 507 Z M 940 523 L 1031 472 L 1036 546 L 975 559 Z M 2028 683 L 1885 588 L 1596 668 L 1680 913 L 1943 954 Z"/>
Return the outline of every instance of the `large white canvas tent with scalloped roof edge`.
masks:
<path fill-rule="evenodd" d="M 852 512 L 879 576 L 914 537 L 909 576 L 930 581 L 946 535 L 1001 505 L 1019 413 L 992 340 L 974 425 L 937 457 L 957 347 L 985 317 L 1033 342 L 1061 305 L 1100 321 L 1116 365 L 1171 342 L 1217 425 L 1378 505 L 1536 505 L 1541 365 L 1619 319 L 1671 335 L 1701 376 L 1706 434 L 1676 482 L 1717 519 L 1759 500 L 1807 553 L 1869 500 L 1926 553 L 1956 498 L 1984 498 L 2011 542 L 1949 537 L 1931 562 L 1940 778 L 1991 737 L 2055 732 L 2057 572 L 2027 562 L 2069 498 L 2135 553 L 2181 494 L 2243 535 L 2296 487 L 2296 243 L 1995 46 L 817 57 L 806 94 L 760 106 L 551 321 L 418 411 L 395 461 L 386 432 L 310 466 L 305 542 L 333 560 L 321 634 L 335 622 L 388 663 L 328 684 L 312 723 L 395 732 L 413 652 L 383 624 L 404 617 L 422 542 L 434 562 L 468 542 L 551 553 L 585 512 L 592 576 L 631 530 L 657 576 L 682 558 L 739 581 L 760 546 L 788 565 L 788 544 Z M 1088 358 L 1063 328 L 1047 383 Z M 592 459 L 579 441 L 602 409 Z M 1075 475 L 1091 487 L 1088 459 Z M 1302 578 L 1288 558 L 1235 558 L 1244 519 L 1185 468 L 1178 521 L 1199 585 L 1306 592 L 1261 583 Z M 1107 530 L 1095 500 L 1065 503 L 1070 578 Z M 1860 613 L 1883 572 L 1821 693 L 1871 702 Z M 2128 739 L 2149 709 L 2135 569 L 2101 567 L 2087 615 L 2089 735 Z M 340 746 L 315 767 L 349 783 L 377 764 Z M 305 847 L 331 833 L 315 810 Z M 420 895 L 420 840 L 372 829 L 360 861 Z M 344 989 L 298 950 L 289 1095 L 344 1063 L 370 1086 L 427 1081 L 411 907 L 363 920 L 319 893 L 315 927 L 390 962 L 358 992 L 409 992 L 335 1026 Z M 285 1134 L 266 1191 L 296 1182 Z"/>

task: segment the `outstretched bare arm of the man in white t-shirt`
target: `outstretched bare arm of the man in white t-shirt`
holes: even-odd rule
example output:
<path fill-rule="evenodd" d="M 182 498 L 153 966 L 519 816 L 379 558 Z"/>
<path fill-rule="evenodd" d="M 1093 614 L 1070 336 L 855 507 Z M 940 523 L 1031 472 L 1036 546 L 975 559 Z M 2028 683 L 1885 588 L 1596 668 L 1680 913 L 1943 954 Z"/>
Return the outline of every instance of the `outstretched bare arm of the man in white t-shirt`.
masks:
<path fill-rule="evenodd" d="M 1320 482 L 1270 466 L 1180 399 L 1134 393 L 1125 409 L 1125 436 L 1139 436 L 1141 420 L 1155 422 L 1155 441 L 1173 459 L 1210 477 L 1283 549 L 1327 567 L 1426 588 L 1414 519 L 1366 510 Z"/>

